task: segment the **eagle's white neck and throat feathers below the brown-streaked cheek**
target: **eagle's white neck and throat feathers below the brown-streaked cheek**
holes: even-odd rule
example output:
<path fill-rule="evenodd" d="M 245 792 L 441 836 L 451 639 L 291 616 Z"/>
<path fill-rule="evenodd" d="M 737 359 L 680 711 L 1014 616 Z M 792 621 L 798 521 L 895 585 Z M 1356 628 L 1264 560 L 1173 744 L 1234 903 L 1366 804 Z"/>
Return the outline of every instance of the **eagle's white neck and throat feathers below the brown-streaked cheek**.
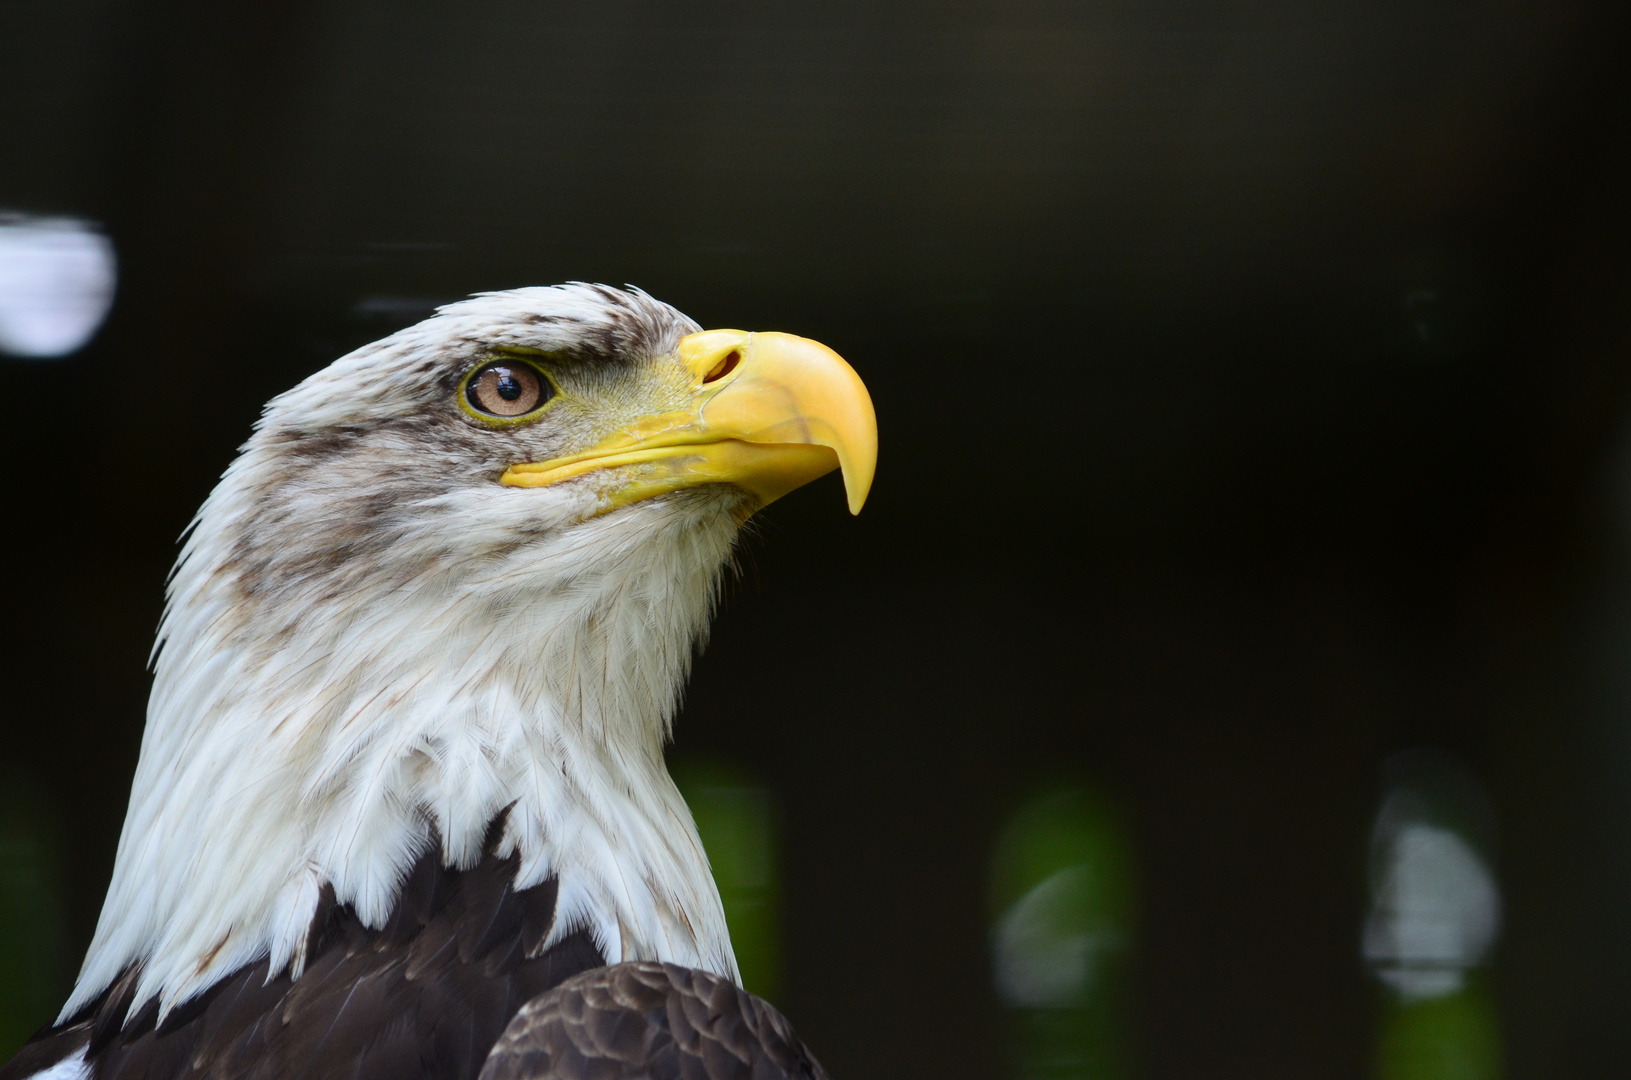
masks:
<path fill-rule="evenodd" d="M 734 543 L 729 496 L 582 520 L 589 491 L 453 489 L 416 512 L 473 522 L 457 553 L 445 529 L 408 525 L 390 564 L 413 573 L 343 564 L 267 586 L 241 532 L 276 468 L 251 440 L 171 581 L 113 884 L 62 1016 L 130 964 L 132 1008 L 168 1010 L 261 958 L 298 977 L 325 884 L 378 927 L 431 837 L 468 868 L 504 808 L 517 887 L 559 879 L 545 948 L 587 927 L 610 963 L 736 977 L 662 762 Z M 325 520 L 346 514 L 343 493 L 312 498 L 333 504 Z M 517 543 L 527 525 L 538 538 Z"/>

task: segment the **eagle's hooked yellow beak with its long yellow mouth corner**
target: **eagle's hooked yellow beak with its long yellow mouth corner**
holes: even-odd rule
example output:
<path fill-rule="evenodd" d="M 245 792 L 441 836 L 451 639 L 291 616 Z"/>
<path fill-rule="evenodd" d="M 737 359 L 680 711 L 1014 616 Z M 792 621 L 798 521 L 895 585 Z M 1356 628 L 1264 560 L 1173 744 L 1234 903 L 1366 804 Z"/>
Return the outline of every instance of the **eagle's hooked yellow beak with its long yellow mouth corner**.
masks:
<path fill-rule="evenodd" d="M 860 514 L 877 467 L 877 418 L 855 369 L 793 334 L 709 330 L 680 341 L 687 408 L 648 416 L 581 454 L 512 465 L 499 483 L 543 488 L 618 468 L 610 506 L 727 483 L 760 509 L 835 468 Z"/>

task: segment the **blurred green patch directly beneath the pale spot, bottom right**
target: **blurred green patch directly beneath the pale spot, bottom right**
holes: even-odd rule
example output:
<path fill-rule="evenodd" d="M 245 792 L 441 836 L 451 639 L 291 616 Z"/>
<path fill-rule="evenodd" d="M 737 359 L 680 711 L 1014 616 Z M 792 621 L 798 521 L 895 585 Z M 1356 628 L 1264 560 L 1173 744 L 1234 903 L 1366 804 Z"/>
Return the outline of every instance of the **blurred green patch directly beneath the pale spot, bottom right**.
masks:
<path fill-rule="evenodd" d="M 1496 1007 L 1476 982 L 1456 994 L 1406 1002 L 1388 997 L 1377 1067 L 1380 1080 L 1496 1080 Z"/>

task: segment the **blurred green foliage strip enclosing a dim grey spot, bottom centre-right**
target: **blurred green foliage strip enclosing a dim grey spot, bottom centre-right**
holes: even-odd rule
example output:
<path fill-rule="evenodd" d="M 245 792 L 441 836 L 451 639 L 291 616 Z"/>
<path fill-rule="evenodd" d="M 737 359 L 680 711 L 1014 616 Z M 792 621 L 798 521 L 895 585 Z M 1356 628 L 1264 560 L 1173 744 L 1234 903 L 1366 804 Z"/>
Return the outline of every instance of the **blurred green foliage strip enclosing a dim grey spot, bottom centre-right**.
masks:
<path fill-rule="evenodd" d="M 992 945 L 1016 1077 L 1129 1075 L 1132 892 L 1125 827 L 1086 788 L 1034 795 L 1003 829 L 992 865 Z"/>

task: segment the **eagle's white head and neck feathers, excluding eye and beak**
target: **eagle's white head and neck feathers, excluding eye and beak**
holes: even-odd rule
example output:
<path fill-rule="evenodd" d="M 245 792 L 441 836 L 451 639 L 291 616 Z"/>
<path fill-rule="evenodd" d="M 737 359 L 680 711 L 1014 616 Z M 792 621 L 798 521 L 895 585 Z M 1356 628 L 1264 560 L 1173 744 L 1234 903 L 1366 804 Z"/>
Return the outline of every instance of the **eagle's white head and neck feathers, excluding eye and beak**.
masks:
<path fill-rule="evenodd" d="M 662 742 L 744 496 L 595 516 L 603 476 L 496 483 L 662 408 L 695 330 L 639 292 L 486 294 L 267 405 L 170 582 L 113 884 L 64 1018 L 132 964 L 132 1010 L 261 958 L 298 976 L 325 884 L 378 927 L 432 837 L 468 868 L 504 808 L 517 887 L 559 879 L 545 946 L 587 927 L 610 963 L 736 977 Z M 556 357 L 576 405 L 504 431 L 462 416 L 457 382 L 496 346 Z"/>

